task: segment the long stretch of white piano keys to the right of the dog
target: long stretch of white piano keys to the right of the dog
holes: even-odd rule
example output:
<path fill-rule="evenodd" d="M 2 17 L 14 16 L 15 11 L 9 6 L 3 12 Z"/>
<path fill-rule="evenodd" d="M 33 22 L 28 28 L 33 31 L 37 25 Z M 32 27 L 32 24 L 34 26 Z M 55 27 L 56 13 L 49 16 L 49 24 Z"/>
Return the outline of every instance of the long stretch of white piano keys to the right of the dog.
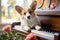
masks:
<path fill-rule="evenodd" d="M 45 31 L 37 31 L 37 30 L 31 30 L 32 33 L 34 33 L 36 36 L 46 38 L 48 40 L 54 40 L 54 35 L 58 35 L 58 33 L 49 33 Z"/>

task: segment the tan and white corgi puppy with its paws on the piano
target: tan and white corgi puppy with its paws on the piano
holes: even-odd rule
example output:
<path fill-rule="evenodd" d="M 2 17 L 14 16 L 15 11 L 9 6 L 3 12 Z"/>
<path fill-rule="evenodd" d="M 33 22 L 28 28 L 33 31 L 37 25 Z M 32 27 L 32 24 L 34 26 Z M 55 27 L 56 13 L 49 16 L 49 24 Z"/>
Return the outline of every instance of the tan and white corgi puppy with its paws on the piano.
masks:
<path fill-rule="evenodd" d="M 34 12 L 36 9 L 36 6 L 37 6 L 36 1 L 33 1 L 27 10 L 18 5 L 15 6 L 17 13 L 20 14 L 21 27 L 25 31 L 28 31 L 31 28 L 35 28 L 37 30 L 41 29 L 41 26 L 39 26 L 40 24 Z"/>

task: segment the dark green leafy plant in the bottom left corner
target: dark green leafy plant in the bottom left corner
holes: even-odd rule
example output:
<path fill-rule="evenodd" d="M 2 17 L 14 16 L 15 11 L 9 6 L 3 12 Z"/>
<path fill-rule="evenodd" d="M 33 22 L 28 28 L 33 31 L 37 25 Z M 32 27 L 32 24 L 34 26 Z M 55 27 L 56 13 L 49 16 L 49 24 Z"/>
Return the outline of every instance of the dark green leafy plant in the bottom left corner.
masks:
<path fill-rule="evenodd" d="M 24 37 L 18 35 L 17 31 L 0 32 L 0 40 L 24 40 Z"/>

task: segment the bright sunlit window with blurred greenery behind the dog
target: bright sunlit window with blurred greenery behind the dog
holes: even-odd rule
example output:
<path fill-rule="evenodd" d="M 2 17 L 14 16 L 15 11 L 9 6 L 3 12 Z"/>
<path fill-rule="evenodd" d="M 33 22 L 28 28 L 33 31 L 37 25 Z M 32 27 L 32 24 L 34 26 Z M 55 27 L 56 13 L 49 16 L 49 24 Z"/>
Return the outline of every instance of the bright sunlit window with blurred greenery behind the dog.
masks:
<path fill-rule="evenodd" d="M 1 22 L 13 23 L 20 21 L 15 5 L 27 8 L 32 0 L 1 0 Z"/>

